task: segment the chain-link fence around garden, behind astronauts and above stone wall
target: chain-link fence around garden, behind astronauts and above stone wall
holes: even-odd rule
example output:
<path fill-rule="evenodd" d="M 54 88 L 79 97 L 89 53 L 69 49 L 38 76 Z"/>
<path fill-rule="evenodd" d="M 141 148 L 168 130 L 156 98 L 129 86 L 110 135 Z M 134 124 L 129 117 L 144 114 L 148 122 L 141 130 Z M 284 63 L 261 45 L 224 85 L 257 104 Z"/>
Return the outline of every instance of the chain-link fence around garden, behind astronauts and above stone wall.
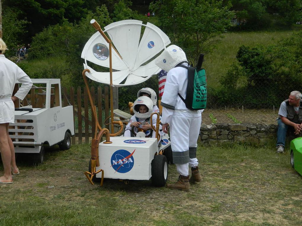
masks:
<path fill-rule="evenodd" d="M 137 92 L 143 87 L 152 88 L 158 95 L 157 76 L 138 85 L 120 87 L 119 109 L 129 112 L 128 102 L 134 102 Z M 298 82 L 287 78 L 254 79 L 249 86 L 233 89 L 214 89 L 208 86 L 203 122 L 276 124 L 281 102 L 288 99 L 291 91 L 299 90 L 300 87 Z"/>

